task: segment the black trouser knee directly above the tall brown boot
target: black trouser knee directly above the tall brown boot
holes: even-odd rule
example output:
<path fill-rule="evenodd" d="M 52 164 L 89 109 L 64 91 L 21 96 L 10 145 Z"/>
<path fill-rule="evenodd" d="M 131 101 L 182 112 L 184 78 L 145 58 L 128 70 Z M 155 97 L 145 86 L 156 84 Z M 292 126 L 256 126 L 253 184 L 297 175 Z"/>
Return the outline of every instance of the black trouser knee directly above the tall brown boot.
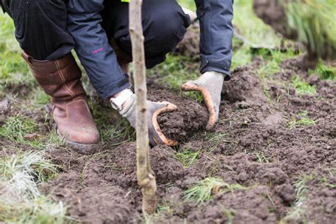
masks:
<path fill-rule="evenodd" d="M 35 60 L 57 59 L 74 47 L 74 40 L 67 32 L 64 1 L 13 0 L 10 9 L 16 39 Z"/>

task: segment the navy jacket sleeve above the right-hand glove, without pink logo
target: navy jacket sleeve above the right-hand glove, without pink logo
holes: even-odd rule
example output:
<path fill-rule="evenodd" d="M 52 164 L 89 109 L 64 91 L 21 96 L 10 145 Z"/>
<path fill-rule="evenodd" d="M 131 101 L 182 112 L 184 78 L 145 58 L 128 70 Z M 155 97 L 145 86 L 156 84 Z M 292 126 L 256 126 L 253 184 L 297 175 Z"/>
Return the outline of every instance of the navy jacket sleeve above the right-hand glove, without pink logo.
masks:
<path fill-rule="evenodd" d="M 230 79 L 233 0 L 195 0 L 201 26 L 201 73 L 214 71 Z"/>

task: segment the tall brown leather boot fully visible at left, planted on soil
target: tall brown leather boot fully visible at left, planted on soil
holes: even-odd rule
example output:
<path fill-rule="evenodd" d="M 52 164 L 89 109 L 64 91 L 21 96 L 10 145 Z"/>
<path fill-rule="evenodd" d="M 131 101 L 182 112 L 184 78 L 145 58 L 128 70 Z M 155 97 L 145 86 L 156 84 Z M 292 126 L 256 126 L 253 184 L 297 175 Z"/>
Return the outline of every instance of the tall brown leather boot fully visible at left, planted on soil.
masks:
<path fill-rule="evenodd" d="M 57 134 L 82 152 L 91 150 L 99 142 L 99 132 L 89 111 L 80 82 L 82 72 L 74 57 L 69 54 L 59 60 L 39 61 L 26 52 L 22 55 L 42 89 L 51 96 Z"/>

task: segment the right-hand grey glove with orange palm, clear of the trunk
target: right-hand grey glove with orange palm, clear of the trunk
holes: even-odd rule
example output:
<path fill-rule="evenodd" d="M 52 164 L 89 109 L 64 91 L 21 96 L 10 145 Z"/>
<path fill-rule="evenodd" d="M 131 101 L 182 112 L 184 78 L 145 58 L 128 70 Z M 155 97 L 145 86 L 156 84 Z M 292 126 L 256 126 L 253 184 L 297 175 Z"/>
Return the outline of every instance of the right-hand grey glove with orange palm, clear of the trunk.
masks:
<path fill-rule="evenodd" d="M 186 82 L 181 86 L 183 91 L 201 91 L 209 112 L 206 130 L 211 130 L 218 121 L 220 92 L 223 88 L 225 74 L 206 72 L 195 81 Z"/>

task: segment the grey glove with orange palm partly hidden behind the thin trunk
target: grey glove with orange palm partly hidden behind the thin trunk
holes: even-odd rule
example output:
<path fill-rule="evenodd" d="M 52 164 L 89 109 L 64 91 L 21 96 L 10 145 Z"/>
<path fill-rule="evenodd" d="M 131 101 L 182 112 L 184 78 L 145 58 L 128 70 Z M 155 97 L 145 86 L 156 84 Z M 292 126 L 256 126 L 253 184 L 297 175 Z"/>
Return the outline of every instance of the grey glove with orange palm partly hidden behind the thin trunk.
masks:
<path fill-rule="evenodd" d="M 159 128 L 159 123 L 157 123 L 157 116 L 161 113 L 175 111 L 177 106 L 169 102 L 152 102 L 147 101 L 147 123 L 148 123 L 148 135 L 150 138 L 150 144 L 155 145 L 177 145 L 175 140 L 170 140 Z M 121 116 L 126 118 L 130 125 L 135 128 L 136 125 L 136 113 L 135 113 L 135 94 L 133 94 L 128 101 L 125 102 L 123 110 L 119 111 Z"/>

